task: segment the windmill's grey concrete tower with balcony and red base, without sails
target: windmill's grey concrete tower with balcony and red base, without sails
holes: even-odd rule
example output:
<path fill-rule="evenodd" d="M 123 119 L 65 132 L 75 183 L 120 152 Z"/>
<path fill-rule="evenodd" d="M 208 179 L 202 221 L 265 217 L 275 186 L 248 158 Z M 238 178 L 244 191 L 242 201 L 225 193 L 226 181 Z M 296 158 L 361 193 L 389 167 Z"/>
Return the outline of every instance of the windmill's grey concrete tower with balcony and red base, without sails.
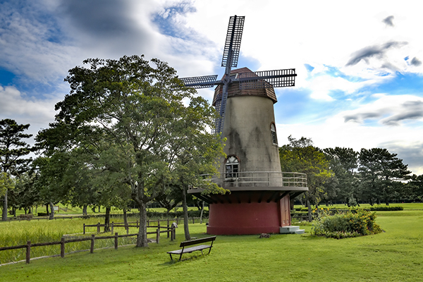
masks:
<path fill-rule="evenodd" d="M 252 73 L 248 68 L 231 71 Z M 222 92 L 216 87 L 216 97 Z M 303 173 L 282 173 L 274 118 L 276 94 L 272 87 L 228 88 L 223 137 L 226 137 L 219 176 L 213 181 L 230 190 L 225 195 L 200 195 L 209 202 L 207 233 L 215 235 L 279 233 L 290 225 L 290 195 L 307 191 Z"/>

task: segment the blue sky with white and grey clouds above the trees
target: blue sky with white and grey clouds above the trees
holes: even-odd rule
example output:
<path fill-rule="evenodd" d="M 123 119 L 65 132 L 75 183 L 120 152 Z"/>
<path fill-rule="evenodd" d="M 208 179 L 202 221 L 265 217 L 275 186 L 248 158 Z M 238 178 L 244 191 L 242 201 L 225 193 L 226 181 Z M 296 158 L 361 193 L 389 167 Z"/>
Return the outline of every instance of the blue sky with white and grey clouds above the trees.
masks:
<path fill-rule="evenodd" d="M 183 77 L 221 75 L 230 16 L 245 16 L 238 68 L 295 68 L 276 88 L 279 145 L 386 148 L 423 174 L 423 17 L 415 1 L 0 0 L 0 119 L 54 121 L 68 70 L 145 55 Z M 198 93 L 211 102 L 212 88 Z M 30 141 L 32 142 L 32 141 Z"/>

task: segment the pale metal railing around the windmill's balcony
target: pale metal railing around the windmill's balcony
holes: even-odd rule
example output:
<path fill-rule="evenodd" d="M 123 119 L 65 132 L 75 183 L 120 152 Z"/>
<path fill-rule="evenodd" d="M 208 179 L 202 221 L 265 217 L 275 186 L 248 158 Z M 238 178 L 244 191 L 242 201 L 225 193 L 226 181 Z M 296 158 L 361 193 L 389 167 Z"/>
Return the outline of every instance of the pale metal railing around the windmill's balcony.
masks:
<path fill-rule="evenodd" d="M 307 175 L 297 172 L 246 171 L 202 175 L 204 180 L 225 187 L 302 187 L 307 188 Z"/>

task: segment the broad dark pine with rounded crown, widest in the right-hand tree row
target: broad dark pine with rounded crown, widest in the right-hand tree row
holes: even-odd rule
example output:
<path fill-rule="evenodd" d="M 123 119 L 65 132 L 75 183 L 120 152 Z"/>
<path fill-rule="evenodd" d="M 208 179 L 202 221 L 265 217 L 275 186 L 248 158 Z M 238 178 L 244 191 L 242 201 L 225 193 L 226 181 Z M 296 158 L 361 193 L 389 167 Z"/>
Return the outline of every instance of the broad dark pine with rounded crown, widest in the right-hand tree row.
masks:
<path fill-rule="evenodd" d="M 411 171 L 397 154 L 391 154 L 387 149 L 361 149 L 360 171 L 362 193 L 373 204 L 376 199 L 380 204 L 384 200 L 386 205 L 393 193 L 398 192 L 403 185 L 401 181 L 409 178 Z"/>

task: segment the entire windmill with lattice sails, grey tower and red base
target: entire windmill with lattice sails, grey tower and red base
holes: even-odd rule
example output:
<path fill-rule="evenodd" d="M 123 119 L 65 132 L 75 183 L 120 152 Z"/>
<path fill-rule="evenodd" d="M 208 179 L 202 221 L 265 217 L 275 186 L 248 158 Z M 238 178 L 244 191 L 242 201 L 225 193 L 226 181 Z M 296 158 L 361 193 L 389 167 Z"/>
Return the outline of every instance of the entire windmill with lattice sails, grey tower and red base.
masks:
<path fill-rule="evenodd" d="M 219 112 L 213 133 L 226 137 L 219 175 L 212 181 L 231 193 L 189 193 L 209 203 L 207 233 L 216 235 L 283 232 L 290 226 L 290 197 L 308 190 L 304 173 L 281 172 L 274 87 L 295 85 L 295 69 L 252 72 L 238 65 L 245 17 L 231 16 L 221 66 L 225 74 L 180 78 L 185 86 L 216 86 L 213 105 Z"/>

